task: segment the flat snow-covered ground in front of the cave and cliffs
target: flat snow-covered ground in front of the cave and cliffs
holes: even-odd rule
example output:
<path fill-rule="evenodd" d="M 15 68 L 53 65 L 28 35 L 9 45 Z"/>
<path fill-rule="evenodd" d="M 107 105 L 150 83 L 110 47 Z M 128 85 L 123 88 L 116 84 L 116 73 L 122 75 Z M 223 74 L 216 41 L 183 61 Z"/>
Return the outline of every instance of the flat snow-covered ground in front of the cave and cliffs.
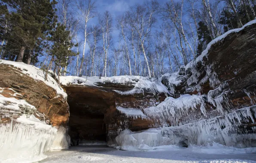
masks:
<path fill-rule="evenodd" d="M 232 149 L 221 147 L 122 151 L 107 146 L 72 146 L 66 151 L 46 153 L 48 158 L 39 163 L 256 163 L 256 153 L 234 152 L 230 154 Z"/>

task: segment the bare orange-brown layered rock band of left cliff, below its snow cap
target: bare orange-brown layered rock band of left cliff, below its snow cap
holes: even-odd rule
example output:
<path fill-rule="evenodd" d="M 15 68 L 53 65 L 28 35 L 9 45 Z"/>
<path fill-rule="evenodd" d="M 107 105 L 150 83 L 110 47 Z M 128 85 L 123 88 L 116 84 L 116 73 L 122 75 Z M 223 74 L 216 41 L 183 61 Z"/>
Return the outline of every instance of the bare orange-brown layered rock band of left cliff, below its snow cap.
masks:
<path fill-rule="evenodd" d="M 27 70 L 28 71 L 28 70 Z M 15 66 L 0 64 L 0 94 L 25 100 L 36 107 L 37 111 L 46 115 L 46 121 L 53 126 L 67 127 L 69 106 L 66 97 L 42 81 L 35 81 Z M 4 113 L 0 113 L 4 115 Z M 6 117 L 2 121 L 9 121 Z"/>

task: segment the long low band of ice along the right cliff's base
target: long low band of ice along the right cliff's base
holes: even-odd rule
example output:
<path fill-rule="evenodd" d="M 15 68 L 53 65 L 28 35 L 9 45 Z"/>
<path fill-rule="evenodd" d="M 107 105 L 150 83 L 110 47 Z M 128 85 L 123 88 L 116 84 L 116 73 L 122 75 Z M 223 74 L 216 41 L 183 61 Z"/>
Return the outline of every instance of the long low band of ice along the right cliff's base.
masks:
<path fill-rule="evenodd" d="M 213 145 L 245 148 L 256 146 L 256 127 L 243 130 L 244 122 L 254 122 L 256 106 L 238 109 L 227 115 L 204 119 L 189 124 L 172 127 L 160 127 L 140 132 L 126 129 L 116 137 L 119 148 L 147 149 L 162 145 Z M 152 148 L 151 148 L 152 149 Z"/>

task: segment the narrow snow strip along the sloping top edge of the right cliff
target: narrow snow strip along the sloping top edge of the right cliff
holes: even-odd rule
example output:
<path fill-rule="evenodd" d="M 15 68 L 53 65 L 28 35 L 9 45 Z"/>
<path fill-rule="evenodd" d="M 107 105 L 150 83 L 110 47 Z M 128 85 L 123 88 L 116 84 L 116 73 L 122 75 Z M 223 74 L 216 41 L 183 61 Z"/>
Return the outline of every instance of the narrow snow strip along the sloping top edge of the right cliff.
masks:
<path fill-rule="evenodd" d="M 243 30 L 245 27 L 249 26 L 249 25 L 252 25 L 252 24 L 256 24 L 256 19 L 252 20 L 252 21 L 249 21 L 247 24 L 244 24 L 243 27 L 241 28 L 236 28 L 236 29 L 233 29 L 233 30 L 229 30 L 227 31 L 226 33 L 222 34 L 221 36 L 213 39 L 206 47 L 206 49 L 202 52 L 201 55 L 199 55 L 195 60 L 192 60 L 190 61 L 187 65 L 186 65 L 186 69 L 188 69 L 189 67 L 191 67 L 193 64 L 203 60 L 203 57 L 206 56 L 207 57 L 207 54 L 208 54 L 208 51 L 211 47 L 211 45 L 215 44 L 216 42 L 224 39 L 226 36 L 228 36 L 230 33 L 238 33 L 239 31 Z"/>

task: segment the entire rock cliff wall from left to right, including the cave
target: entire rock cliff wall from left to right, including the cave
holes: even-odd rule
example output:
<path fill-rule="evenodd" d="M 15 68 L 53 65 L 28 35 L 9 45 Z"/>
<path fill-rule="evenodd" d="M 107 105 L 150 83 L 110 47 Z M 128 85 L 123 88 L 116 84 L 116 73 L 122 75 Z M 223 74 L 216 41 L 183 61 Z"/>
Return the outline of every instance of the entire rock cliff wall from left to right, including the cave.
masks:
<path fill-rule="evenodd" d="M 54 74 L 44 80 L 37 67 L 0 60 L 0 151 L 39 160 L 44 151 L 94 141 L 142 150 L 255 147 L 255 36 L 254 20 L 160 79 L 63 76 L 61 88 Z"/>

